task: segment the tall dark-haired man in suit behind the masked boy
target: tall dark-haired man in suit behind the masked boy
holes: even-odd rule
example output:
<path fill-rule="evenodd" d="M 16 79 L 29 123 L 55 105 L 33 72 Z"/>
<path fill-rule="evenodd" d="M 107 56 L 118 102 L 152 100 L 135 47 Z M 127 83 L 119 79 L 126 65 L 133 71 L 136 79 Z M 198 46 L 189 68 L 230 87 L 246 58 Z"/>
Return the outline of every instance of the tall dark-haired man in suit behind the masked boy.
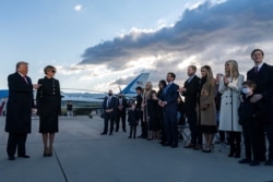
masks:
<path fill-rule="evenodd" d="M 254 61 L 254 66 L 248 71 L 247 80 L 254 81 L 257 89 L 254 96 L 251 98 L 252 102 L 262 100 L 266 106 L 268 114 L 262 119 L 264 125 L 264 132 L 266 133 L 269 141 L 269 157 L 265 161 L 265 166 L 273 166 L 273 68 L 263 62 L 263 51 L 261 49 L 254 49 L 251 52 L 251 59 Z M 261 142 L 260 161 L 265 160 L 265 142 Z M 259 163 L 258 163 L 259 165 Z"/>

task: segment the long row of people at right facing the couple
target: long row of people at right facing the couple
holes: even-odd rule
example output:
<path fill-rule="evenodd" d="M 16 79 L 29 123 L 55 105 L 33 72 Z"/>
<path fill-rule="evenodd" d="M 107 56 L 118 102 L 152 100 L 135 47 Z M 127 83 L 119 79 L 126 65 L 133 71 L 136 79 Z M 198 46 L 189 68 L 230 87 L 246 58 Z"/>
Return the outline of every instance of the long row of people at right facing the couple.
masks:
<path fill-rule="evenodd" d="M 240 158 L 244 144 L 246 157 L 239 163 L 258 166 L 264 161 L 265 166 L 273 166 L 273 66 L 264 63 L 263 57 L 261 49 L 251 52 L 254 66 L 247 72 L 247 78 L 239 73 L 237 61 L 228 60 L 224 73 L 218 73 L 216 78 L 210 65 L 201 68 L 201 77 L 195 74 L 197 66 L 189 65 L 189 77 L 183 86 L 174 83 L 176 74 L 173 72 L 167 73 L 166 81 L 159 81 L 158 92 L 147 82 L 145 88 L 136 88 L 138 96 L 129 109 L 129 120 L 135 118 L 133 125 L 141 123 L 140 137 L 149 141 L 161 138 L 163 146 L 176 148 L 177 124 L 185 116 L 191 136 L 185 148 L 211 153 L 214 136 L 219 132 L 222 137 L 228 138 L 228 157 Z M 104 102 L 106 113 L 115 111 L 115 108 L 106 107 L 107 99 Z M 131 114 L 134 110 L 135 113 Z"/>

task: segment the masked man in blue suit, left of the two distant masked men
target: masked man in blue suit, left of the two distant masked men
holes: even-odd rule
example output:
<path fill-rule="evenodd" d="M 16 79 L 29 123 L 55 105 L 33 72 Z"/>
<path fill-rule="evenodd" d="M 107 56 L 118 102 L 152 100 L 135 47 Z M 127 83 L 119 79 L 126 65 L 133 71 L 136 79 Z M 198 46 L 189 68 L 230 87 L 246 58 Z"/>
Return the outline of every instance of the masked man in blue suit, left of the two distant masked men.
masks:
<path fill-rule="evenodd" d="M 104 117 L 104 132 L 100 133 L 102 135 L 106 135 L 108 133 L 108 122 L 109 122 L 109 120 L 110 120 L 109 135 L 112 135 L 114 121 L 116 119 L 117 107 L 118 107 L 118 99 L 117 99 L 117 97 L 112 96 L 112 90 L 109 89 L 108 90 L 108 96 L 105 97 L 104 102 L 103 102 L 105 117 Z"/>

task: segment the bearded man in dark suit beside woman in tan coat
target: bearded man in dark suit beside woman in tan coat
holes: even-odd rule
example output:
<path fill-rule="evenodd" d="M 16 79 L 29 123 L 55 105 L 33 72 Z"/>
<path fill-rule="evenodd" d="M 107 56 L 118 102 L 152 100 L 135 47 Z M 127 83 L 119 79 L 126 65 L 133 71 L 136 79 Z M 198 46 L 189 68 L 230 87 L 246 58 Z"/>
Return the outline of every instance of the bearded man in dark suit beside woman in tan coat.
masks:
<path fill-rule="evenodd" d="M 183 87 L 179 88 L 185 96 L 185 113 L 190 126 L 191 142 L 185 148 L 202 149 L 202 133 L 199 131 L 197 118 L 198 92 L 200 87 L 200 77 L 195 75 L 197 66 L 188 66 L 189 78 L 185 82 Z"/>

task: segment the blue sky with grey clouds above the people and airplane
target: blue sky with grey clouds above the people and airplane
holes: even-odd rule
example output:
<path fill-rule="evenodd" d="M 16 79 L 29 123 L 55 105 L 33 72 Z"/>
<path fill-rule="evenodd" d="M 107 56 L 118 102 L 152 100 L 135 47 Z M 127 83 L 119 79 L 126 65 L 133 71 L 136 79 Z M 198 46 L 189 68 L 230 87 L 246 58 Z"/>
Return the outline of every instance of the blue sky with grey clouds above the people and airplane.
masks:
<path fill-rule="evenodd" d="M 168 72 L 182 85 L 190 64 L 215 75 L 236 60 L 246 74 L 256 48 L 273 64 L 272 9 L 270 0 L 2 0 L 0 89 L 17 61 L 33 83 L 51 64 L 61 88 L 100 92 L 142 72 L 155 88 Z"/>

